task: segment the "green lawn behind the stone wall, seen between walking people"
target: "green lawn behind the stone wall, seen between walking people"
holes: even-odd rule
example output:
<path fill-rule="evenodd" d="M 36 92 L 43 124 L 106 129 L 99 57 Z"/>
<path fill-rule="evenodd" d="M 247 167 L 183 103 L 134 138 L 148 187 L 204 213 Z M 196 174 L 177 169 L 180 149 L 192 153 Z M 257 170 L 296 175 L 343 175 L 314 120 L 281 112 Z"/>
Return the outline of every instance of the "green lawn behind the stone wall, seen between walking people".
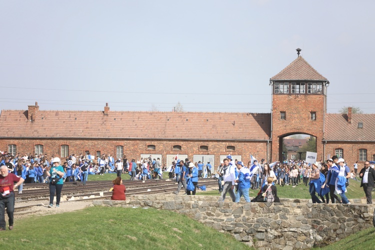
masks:
<path fill-rule="evenodd" d="M 359 180 L 359 179 L 358 179 Z M 199 184 L 199 182 L 198 182 Z M 298 184 L 295 187 L 292 187 L 291 185 L 276 185 L 277 187 L 277 196 L 279 198 L 298 198 L 298 199 L 310 199 L 310 193 L 308 192 L 308 185 L 305 186 L 302 183 Z M 257 195 L 259 192 L 259 189 L 257 190 L 249 190 L 249 195 L 250 198 L 253 198 Z M 212 191 L 206 191 L 206 192 L 199 192 L 197 193 L 199 195 L 220 195 L 218 193 L 218 186 L 216 190 Z M 347 192 L 345 193 L 346 197 L 349 199 L 353 198 L 365 198 L 366 196 L 364 195 L 363 188 L 360 187 L 360 181 L 356 181 L 354 179 L 349 180 L 349 186 L 347 186 Z M 373 192 L 373 195 L 375 193 Z"/>

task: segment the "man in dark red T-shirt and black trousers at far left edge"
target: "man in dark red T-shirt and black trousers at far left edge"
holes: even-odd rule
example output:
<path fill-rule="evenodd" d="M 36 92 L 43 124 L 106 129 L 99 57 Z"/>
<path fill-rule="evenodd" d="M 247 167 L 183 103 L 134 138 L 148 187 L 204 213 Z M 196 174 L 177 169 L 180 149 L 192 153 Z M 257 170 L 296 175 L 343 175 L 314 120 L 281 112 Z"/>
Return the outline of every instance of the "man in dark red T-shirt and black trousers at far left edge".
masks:
<path fill-rule="evenodd" d="M 14 188 L 23 183 L 24 179 L 8 172 L 8 167 L 0 167 L 0 231 L 5 230 L 5 207 L 9 218 L 9 230 L 13 229 Z M 17 182 L 14 184 L 14 182 Z"/>

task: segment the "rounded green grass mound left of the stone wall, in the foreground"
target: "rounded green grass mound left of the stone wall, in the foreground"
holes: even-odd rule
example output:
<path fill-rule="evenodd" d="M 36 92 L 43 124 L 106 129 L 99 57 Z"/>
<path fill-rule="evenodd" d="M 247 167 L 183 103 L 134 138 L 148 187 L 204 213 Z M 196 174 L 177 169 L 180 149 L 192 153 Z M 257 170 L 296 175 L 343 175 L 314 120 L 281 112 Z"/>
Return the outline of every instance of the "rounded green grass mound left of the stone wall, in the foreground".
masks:
<path fill-rule="evenodd" d="M 16 220 L 1 249 L 248 249 L 229 234 L 154 208 L 88 207 Z"/>

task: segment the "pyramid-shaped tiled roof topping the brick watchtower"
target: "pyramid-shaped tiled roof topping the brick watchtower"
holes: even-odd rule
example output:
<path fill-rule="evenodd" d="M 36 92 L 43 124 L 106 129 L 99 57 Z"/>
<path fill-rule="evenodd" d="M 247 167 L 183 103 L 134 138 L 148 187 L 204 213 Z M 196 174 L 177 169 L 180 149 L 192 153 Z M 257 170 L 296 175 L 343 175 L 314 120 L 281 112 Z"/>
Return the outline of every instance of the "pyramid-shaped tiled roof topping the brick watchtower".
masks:
<path fill-rule="evenodd" d="M 319 74 L 302 56 L 298 56 L 270 80 L 327 80 Z"/>

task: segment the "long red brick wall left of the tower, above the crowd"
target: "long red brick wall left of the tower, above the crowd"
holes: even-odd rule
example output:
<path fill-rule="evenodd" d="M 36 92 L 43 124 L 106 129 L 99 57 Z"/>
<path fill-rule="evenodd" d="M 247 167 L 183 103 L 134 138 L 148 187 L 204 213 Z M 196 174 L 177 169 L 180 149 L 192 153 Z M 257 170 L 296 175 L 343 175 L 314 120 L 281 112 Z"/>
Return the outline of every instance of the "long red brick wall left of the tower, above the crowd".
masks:
<path fill-rule="evenodd" d="M 43 153 L 60 156 L 60 146 L 68 145 L 69 154 L 84 154 L 84 151 L 90 151 L 91 155 L 96 156 L 96 151 L 101 154 L 109 153 L 116 157 L 116 146 L 123 146 L 123 153 L 128 159 L 137 159 L 140 154 L 162 154 L 162 163 L 169 164 L 166 161 L 167 154 L 187 154 L 192 160 L 194 154 L 214 154 L 215 165 L 218 165 L 221 155 L 233 154 L 241 155 L 242 161 L 250 160 L 250 154 L 257 159 L 266 158 L 267 142 L 266 141 L 214 141 L 214 140 L 117 140 L 117 139 L 0 139 L 1 150 L 7 150 L 9 144 L 17 146 L 17 152 L 35 153 L 35 145 L 43 145 Z M 148 150 L 147 145 L 155 145 L 155 150 Z M 172 150 L 173 145 L 181 145 L 181 150 Z M 199 150 L 200 145 L 208 146 L 208 151 Z M 228 151 L 227 146 L 235 146 L 235 151 Z"/>

